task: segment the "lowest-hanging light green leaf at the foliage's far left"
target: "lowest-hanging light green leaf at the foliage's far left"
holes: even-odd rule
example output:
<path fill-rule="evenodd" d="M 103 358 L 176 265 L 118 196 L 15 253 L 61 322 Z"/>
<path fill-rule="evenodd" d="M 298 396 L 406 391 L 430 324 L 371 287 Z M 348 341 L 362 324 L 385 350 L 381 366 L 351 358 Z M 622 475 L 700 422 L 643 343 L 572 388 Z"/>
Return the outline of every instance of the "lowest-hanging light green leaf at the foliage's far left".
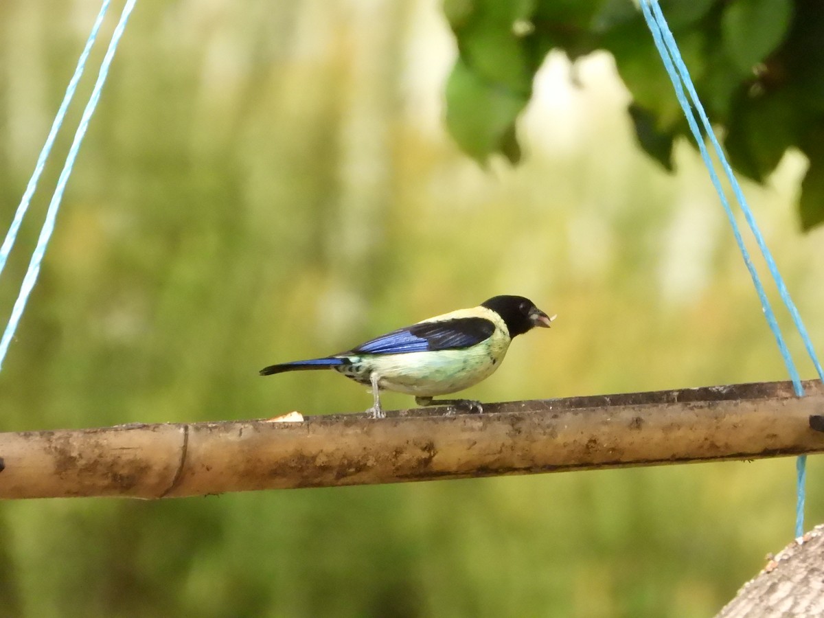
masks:
<path fill-rule="evenodd" d="M 484 80 L 458 59 L 447 81 L 446 97 L 447 128 L 464 152 L 481 164 L 495 152 L 518 162 L 515 119 L 527 105 L 528 95 Z"/>

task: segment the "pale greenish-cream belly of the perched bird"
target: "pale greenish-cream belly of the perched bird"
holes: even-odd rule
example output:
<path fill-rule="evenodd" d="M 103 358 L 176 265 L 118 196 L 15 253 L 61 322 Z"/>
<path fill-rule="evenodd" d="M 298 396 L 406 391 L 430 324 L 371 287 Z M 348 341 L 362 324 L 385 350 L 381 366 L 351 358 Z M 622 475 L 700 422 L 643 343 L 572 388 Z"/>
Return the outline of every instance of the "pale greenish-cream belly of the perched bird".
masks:
<path fill-rule="evenodd" d="M 460 350 L 364 355 L 353 358 L 349 368 L 339 371 L 363 384 L 369 384 L 375 372 L 383 390 L 431 397 L 462 391 L 489 377 L 504 353 L 506 346 L 495 349 L 478 344 Z"/>

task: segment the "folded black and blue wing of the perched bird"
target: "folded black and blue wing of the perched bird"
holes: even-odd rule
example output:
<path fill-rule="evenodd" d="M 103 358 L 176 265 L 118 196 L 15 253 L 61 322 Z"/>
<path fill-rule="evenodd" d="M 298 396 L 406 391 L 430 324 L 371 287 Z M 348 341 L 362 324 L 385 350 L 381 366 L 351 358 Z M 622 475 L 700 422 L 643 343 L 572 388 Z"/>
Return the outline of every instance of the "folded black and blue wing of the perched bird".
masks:
<path fill-rule="evenodd" d="M 358 345 L 349 353 L 403 354 L 439 349 L 470 348 L 489 339 L 495 331 L 483 317 L 461 317 L 436 322 L 420 322 Z"/>

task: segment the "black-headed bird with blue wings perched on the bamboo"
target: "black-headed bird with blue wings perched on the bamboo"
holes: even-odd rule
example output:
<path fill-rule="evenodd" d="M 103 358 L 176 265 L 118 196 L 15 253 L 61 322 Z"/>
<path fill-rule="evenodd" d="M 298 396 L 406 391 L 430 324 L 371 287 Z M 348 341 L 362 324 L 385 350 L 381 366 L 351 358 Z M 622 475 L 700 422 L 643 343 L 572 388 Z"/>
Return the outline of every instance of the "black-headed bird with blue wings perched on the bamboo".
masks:
<path fill-rule="evenodd" d="M 333 369 L 370 386 L 374 402 L 367 413 L 386 416 L 381 391 L 413 395 L 418 405 L 451 405 L 482 412 L 475 400 L 435 400 L 463 391 L 499 368 L 514 337 L 536 326 L 549 328 L 547 316 L 522 296 L 495 296 L 477 307 L 458 309 L 392 330 L 346 352 L 322 358 L 269 365 L 261 376 L 315 369 Z"/>

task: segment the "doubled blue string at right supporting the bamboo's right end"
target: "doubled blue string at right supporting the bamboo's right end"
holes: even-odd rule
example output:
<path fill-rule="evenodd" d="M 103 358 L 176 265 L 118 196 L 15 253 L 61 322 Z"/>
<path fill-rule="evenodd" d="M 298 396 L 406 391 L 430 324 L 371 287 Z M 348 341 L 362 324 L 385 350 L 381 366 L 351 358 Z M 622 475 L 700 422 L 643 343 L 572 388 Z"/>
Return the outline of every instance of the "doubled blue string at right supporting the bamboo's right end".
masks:
<path fill-rule="evenodd" d="M 661 12 L 661 8 L 658 7 L 657 0 L 642 0 L 640 4 L 641 10 L 642 12 L 644 12 L 644 19 L 647 21 L 649 30 L 652 32 L 655 46 L 656 48 L 658 48 L 658 53 L 661 55 L 664 67 L 667 69 L 667 73 L 672 81 L 672 85 L 675 88 L 678 102 L 681 104 L 681 109 L 684 111 L 684 115 L 686 116 L 687 124 L 690 125 L 691 132 L 695 137 L 695 142 L 698 144 L 701 157 L 704 160 L 707 170 L 709 171 L 709 177 L 713 182 L 715 190 L 719 194 L 721 204 L 723 204 L 723 208 L 727 213 L 727 218 L 729 219 L 730 225 L 733 227 L 733 236 L 735 236 L 735 240 L 737 242 L 738 248 L 741 250 L 744 263 L 745 265 L 747 265 L 747 270 L 750 273 L 752 282 L 755 285 L 756 292 L 758 293 L 758 297 L 761 300 L 761 309 L 764 311 L 766 321 L 768 325 L 770 325 L 770 330 L 772 330 L 773 335 L 775 336 L 775 340 L 779 346 L 781 356 L 782 358 L 784 358 L 784 364 L 787 366 L 789 377 L 793 382 L 795 393 L 797 396 L 803 396 L 804 391 L 803 386 L 801 384 L 801 378 L 798 376 L 798 370 L 795 368 L 793 359 L 790 357 L 789 350 L 787 349 L 787 346 L 784 343 L 784 338 L 781 335 L 778 322 L 775 320 L 775 314 L 772 311 L 772 307 L 770 307 L 770 302 L 767 300 L 764 287 L 761 285 L 761 279 L 759 279 L 758 274 L 756 273 L 756 269 L 752 265 L 752 261 L 750 259 L 750 255 L 747 251 L 746 246 L 744 246 L 741 232 L 738 229 L 732 208 L 730 208 L 729 206 L 727 197 L 724 194 L 723 189 L 721 187 L 719 177 L 716 174 L 712 160 L 709 157 L 709 152 L 707 151 L 704 142 L 704 137 L 701 134 L 700 129 L 698 128 L 698 124 L 695 120 L 695 115 L 691 110 L 690 102 L 687 101 L 686 96 L 684 94 L 684 86 L 686 86 L 687 91 L 689 91 L 690 93 L 692 105 L 695 106 L 695 110 L 698 112 L 700 116 L 706 134 L 709 137 L 710 142 L 713 144 L 715 153 L 719 157 L 719 160 L 722 163 L 723 169 L 728 177 L 728 180 L 730 181 L 730 184 L 733 187 L 733 193 L 736 196 L 738 204 L 742 208 L 744 217 L 747 220 L 747 224 L 750 227 L 753 236 L 756 237 L 756 242 L 759 248 L 761 249 L 762 255 L 764 255 L 766 264 L 770 269 L 770 274 L 775 280 L 775 284 L 778 287 L 780 297 L 784 301 L 784 305 L 786 305 L 786 307 L 789 309 L 790 315 L 793 317 L 794 324 L 798 329 L 798 333 L 801 335 L 803 339 L 804 347 L 805 349 L 807 349 L 807 352 L 810 355 L 810 358 L 812 359 L 812 363 L 815 365 L 816 371 L 818 372 L 818 376 L 822 378 L 822 381 L 824 381 L 824 370 L 822 370 L 822 366 L 818 362 L 815 350 L 812 347 L 812 340 L 809 338 L 807 329 L 804 327 L 803 321 L 801 320 L 801 316 L 799 316 L 798 314 L 798 309 L 795 307 L 792 298 L 789 296 L 789 291 L 787 290 L 787 287 L 784 284 L 784 279 L 781 277 L 781 274 L 778 271 L 778 267 L 777 265 L 775 265 L 775 260 L 773 260 L 772 254 L 766 246 L 764 237 L 761 235 L 761 231 L 759 230 L 756 224 L 755 218 L 753 217 L 751 210 L 747 205 L 747 200 L 744 198 L 741 187 L 740 185 L 738 185 L 737 179 L 733 174 L 733 170 L 729 166 L 727 158 L 724 156 L 723 149 L 721 148 L 718 139 L 715 137 L 712 125 L 709 123 L 709 119 L 705 113 L 704 106 L 701 105 L 698 95 L 695 92 L 695 87 L 693 86 L 689 70 L 686 68 L 686 64 L 684 63 L 683 59 L 681 59 L 681 53 L 678 50 L 677 43 L 674 37 L 672 36 L 672 32 L 669 30 L 669 26 L 667 26 L 667 21 L 664 18 L 663 13 Z M 673 66 L 673 63 L 677 66 L 677 69 L 675 68 L 675 66 Z M 798 460 L 796 461 L 796 485 L 798 490 L 798 500 L 796 503 L 795 536 L 801 536 L 803 534 L 803 511 L 806 498 L 804 488 L 806 485 L 807 476 L 806 463 L 806 456 L 799 456 Z"/>

